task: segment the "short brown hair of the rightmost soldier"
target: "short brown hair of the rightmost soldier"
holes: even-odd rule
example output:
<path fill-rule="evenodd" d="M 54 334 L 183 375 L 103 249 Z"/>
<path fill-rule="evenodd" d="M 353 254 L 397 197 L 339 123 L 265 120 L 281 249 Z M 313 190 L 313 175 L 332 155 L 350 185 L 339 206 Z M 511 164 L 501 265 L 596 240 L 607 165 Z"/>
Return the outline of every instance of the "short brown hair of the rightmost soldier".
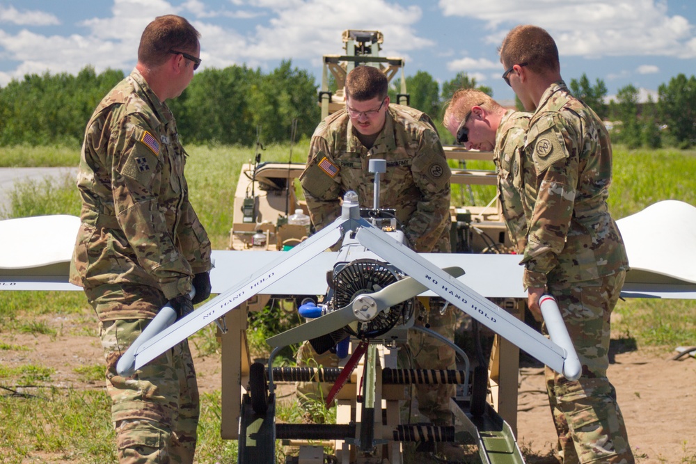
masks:
<path fill-rule="evenodd" d="M 507 33 L 499 51 L 500 63 L 505 66 L 526 63 L 539 74 L 560 70 L 556 42 L 539 26 L 516 26 Z"/>

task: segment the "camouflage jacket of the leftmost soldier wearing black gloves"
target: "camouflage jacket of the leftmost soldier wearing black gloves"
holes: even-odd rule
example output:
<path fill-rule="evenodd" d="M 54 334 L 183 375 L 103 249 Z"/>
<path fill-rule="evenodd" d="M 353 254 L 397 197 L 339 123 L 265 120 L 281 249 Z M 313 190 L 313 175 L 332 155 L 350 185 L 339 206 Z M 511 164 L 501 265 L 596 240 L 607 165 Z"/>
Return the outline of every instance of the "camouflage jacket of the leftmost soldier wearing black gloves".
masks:
<path fill-rule="evenodd" d="M 189 203 L 174 116 L 138 70 L 90 118 L 77 187 L 81 225 L 70 282 L 148 285 L 167 299 L 210 269 L 210 241 Z M 101 320 L 152 314 L 100 314 Z"/>

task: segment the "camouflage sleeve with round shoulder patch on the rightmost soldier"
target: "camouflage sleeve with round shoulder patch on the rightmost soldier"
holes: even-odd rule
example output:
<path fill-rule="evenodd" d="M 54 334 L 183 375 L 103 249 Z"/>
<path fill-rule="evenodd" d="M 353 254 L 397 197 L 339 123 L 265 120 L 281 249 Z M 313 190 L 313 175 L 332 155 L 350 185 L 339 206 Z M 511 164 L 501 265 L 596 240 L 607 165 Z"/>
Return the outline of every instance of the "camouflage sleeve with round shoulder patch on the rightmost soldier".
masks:
<path fill-rule="evenodd" d="M 537 170 L 537 200 L 530 221 L 525 264 L 525 288 L 544 287 L 546 274 L 557 265 L 565 246 L 578 187 L 577 138 L 557 113 L 530 127 L 526 152 Z"/>

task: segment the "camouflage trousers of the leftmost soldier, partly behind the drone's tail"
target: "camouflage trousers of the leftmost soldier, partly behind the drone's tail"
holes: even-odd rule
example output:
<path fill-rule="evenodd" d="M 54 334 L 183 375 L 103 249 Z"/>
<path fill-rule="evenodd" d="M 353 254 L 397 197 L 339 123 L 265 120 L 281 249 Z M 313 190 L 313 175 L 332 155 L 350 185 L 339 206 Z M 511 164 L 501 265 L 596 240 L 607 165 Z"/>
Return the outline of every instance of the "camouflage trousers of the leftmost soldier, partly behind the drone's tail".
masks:
<path fill-rule="evenodd" d="M 132 299 L 130 296 L 124 296 L 126 302 Z M 113 297 L 110 292 L 102 291 L 95 300 L 90 298 L 90 302 L 100 314 L 100 300 L 108 300 L 113 307 Z M 166 303 L 164 296 L 159 298 L 153 303 L 158 308 Z M 143 299 L 138 304 L 143 305 Z M 121 464 L 193 463 L 200 406 L 188 342 L 177 344 L 131 377 L 116 372 L 120 355 L 149 321 L 123 319 L 99 323 L 118 461 Z"/>

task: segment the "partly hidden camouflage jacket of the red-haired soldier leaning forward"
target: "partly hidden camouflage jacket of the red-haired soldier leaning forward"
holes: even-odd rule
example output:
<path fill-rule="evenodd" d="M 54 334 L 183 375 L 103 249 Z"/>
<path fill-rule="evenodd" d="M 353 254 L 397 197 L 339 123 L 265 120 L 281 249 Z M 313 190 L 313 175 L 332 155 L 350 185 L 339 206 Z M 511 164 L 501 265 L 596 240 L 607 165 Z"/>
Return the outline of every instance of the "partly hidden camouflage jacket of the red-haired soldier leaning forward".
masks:
<path fill-rule="evenodd" d="M 521 151 L 530 121 L 530 113 L 509 110 L 496 131 L 493 161 L 498 173 L 498 200 L 503 209 L 507 233 L 517 253 L 524 253 L 527 244 L 527 217 L 522 206 L 523 188 L 520 170 Z"/>

